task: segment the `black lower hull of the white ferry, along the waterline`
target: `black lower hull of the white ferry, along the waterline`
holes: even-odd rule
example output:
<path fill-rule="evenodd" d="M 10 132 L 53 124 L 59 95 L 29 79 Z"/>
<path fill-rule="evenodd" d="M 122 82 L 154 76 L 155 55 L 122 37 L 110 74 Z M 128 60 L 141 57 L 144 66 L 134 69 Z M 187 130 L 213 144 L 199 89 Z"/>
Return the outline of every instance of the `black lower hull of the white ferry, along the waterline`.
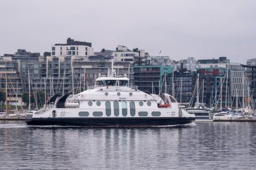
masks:
<path fill-rule="evenodd" d="M 195 118 L 26 118 L 28 125 L 61 125 L 61 126 L 169 126 L 189 124 Z"/>

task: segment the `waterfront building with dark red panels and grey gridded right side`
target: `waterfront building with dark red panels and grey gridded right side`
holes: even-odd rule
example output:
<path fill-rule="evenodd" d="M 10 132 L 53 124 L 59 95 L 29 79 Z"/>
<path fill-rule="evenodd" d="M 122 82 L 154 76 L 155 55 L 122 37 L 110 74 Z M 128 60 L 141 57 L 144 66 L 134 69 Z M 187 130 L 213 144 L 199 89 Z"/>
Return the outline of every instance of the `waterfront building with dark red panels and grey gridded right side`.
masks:
<path fill-rule="evenodd" d="M 243 67 L 230 63 L 226 57 L 198 60 L 199 101 L 208 107 L 245 107 L 243 96 L 247 94 L 247 84 Z M 244 81 L 244 83 L 243 83 Z M 238 105 L 236 105 L 236 96 Z"/>

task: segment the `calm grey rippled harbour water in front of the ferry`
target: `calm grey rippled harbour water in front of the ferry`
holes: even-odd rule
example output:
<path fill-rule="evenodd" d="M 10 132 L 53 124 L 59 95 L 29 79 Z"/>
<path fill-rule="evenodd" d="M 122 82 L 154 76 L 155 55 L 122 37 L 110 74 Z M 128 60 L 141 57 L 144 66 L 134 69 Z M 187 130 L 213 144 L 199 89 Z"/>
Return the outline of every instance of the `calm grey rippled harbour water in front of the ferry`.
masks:
<path fill-rule="evenodd" d="M 255 169 L 256 122 L 168 128 L 0 121 L 0 169 Z"/>

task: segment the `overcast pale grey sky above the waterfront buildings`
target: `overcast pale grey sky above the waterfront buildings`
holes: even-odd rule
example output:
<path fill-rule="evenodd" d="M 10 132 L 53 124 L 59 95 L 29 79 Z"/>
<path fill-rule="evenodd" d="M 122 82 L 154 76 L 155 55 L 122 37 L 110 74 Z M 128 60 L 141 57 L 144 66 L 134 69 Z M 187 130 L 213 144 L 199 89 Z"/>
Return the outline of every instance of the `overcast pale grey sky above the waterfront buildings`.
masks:
<path fill-rule="evenodd" d="M 120 44 L 174 60 L 256 58 L 254 0 L 0 0 L 0 24 L 0 55 L 51 51 L 70 37 L 94 51 Z"/>

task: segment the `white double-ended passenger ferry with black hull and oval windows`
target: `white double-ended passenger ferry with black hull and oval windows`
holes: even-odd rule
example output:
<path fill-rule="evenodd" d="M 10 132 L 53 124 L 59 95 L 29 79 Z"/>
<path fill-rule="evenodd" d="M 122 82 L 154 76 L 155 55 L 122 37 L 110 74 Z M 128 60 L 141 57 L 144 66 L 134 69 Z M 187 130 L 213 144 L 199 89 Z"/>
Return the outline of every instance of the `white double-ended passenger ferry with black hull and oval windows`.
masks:
<path fill-rule="evenodd" d="M 167 93 L 163 99 L 149 95 L 129 86 L 127 77 L 117 77 L 115 70 L 109 69 L 108 76 L 101 76 L 90 89 L 73 96 L 70 93 L 57 97 L 49 103 L 44 112 L 28 114 L 28 125 L 62 126 L 169 126 L 189 124 L 195 115 L 189 114 Z M 56 98 L 56 97 L 55 97 Z"/>

